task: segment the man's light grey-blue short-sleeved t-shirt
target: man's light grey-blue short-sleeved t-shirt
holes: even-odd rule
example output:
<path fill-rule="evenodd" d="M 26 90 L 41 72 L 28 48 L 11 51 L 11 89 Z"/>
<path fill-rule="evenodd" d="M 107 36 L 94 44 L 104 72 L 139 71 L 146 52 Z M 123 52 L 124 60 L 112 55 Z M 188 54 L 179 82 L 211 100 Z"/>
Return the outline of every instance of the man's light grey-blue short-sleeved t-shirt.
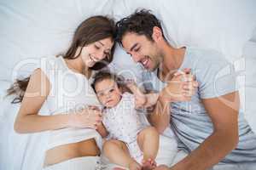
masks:
<path fill-rule="evenodd" d="M 178 147 L 188 152 L 195 150 L 213 132 L 213 125 L 201 99 L 211 99 L 230 94 L 236 89 L 236 72 L 222 54 L 213 50 L 186 48 L 179 70 L 190 68 L 199 82 L 195 95 L 189 102 L 171 104 L 171 128 L 177 136 Z M 143 72 L 144 88 L 160 91 L 166 86 L 154 72 Z M 229 105 L 227 101 L 224 101 Z M 223 111 L 222 114 L 227 114 Z M 240 111 L 239 144 L 224 158 L 223 163 L 256 161 L 256 135 Z"/>

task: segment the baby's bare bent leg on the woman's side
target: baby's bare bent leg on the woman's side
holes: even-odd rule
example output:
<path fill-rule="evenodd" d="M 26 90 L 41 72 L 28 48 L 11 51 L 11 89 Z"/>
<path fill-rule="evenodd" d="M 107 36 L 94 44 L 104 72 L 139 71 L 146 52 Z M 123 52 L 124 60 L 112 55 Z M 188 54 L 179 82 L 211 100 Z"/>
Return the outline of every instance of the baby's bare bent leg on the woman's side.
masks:
<path fill-rule="evenodd" d="M 131 158 L 128 148 L 122 141 L 114 139 L 107 140 L 103 144 L 103 152 L 109 161 L 117 165 L 129 167 L 129 169 L 141 169 L 137 161 Z"/>

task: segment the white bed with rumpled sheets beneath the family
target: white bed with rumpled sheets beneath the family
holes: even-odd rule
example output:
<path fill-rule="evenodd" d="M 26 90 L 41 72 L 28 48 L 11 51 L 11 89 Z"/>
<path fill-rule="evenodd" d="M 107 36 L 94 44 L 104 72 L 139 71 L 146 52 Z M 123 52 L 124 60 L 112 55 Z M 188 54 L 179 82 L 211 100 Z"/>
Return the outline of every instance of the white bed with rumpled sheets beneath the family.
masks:
<path fill-rule="evenodd" d="M 254 0 L 1 1 L 0 169 L 38 169 L 39 158 L 28 153 L 39 156 L 41 151 L 40 144 L 35 142 L 41 134 L 20 135 L 13 130 L 19 105 L 10 105 L 12 97 L 5 97 L 9 85 L 16 77 L 28 76 L 41 57 L 63 52 L 74 29 L 85 18 L 104 14 L 119 20 L 137 8 L 153 10 L 164 23 L 166 38 L 174 47 L 213 48 L 235 65 L 241 110 L 256 132 L 255 7 Z M 139 82 L 141 68 L 125 55 L 118 47 L 111 65 L 115 71 L 125 70 L 125 77 L 135 77 Z M 172 135 L 167 129 L 161 137 L 166 148 Z"/>

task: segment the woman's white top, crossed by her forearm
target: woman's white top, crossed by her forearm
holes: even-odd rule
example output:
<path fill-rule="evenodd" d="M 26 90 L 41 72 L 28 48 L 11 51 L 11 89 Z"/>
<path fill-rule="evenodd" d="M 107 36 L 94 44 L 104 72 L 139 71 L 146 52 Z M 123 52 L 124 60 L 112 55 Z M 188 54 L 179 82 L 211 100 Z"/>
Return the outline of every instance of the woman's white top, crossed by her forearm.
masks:
<path fill-rule="evenodd" d="M 40 68 L 50 82 L 49 96 L 44 103 L 49 108 L 49 115 L 81 111 L 88 105 L 100 106 L 90 86 L 91 78 L 70 70 L 61 56 L 42 58 Z M 101 148 L 102 137 L 95 129 L 68 127 L 51 130 L 48 149 L 93 138 Z"/>

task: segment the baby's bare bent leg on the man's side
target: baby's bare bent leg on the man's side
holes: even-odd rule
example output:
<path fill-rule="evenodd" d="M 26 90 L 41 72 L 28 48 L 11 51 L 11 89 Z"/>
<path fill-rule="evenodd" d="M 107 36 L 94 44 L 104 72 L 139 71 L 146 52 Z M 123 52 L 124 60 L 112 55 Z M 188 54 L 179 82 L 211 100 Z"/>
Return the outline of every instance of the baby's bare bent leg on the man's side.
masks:
<path fill-rule="evenodd" d="M 143 151 L 143 161 L 154 161 L 159 150 L 159 133 L 154 127 L 146 127 L 138 133 L 137 144 Z"/>

